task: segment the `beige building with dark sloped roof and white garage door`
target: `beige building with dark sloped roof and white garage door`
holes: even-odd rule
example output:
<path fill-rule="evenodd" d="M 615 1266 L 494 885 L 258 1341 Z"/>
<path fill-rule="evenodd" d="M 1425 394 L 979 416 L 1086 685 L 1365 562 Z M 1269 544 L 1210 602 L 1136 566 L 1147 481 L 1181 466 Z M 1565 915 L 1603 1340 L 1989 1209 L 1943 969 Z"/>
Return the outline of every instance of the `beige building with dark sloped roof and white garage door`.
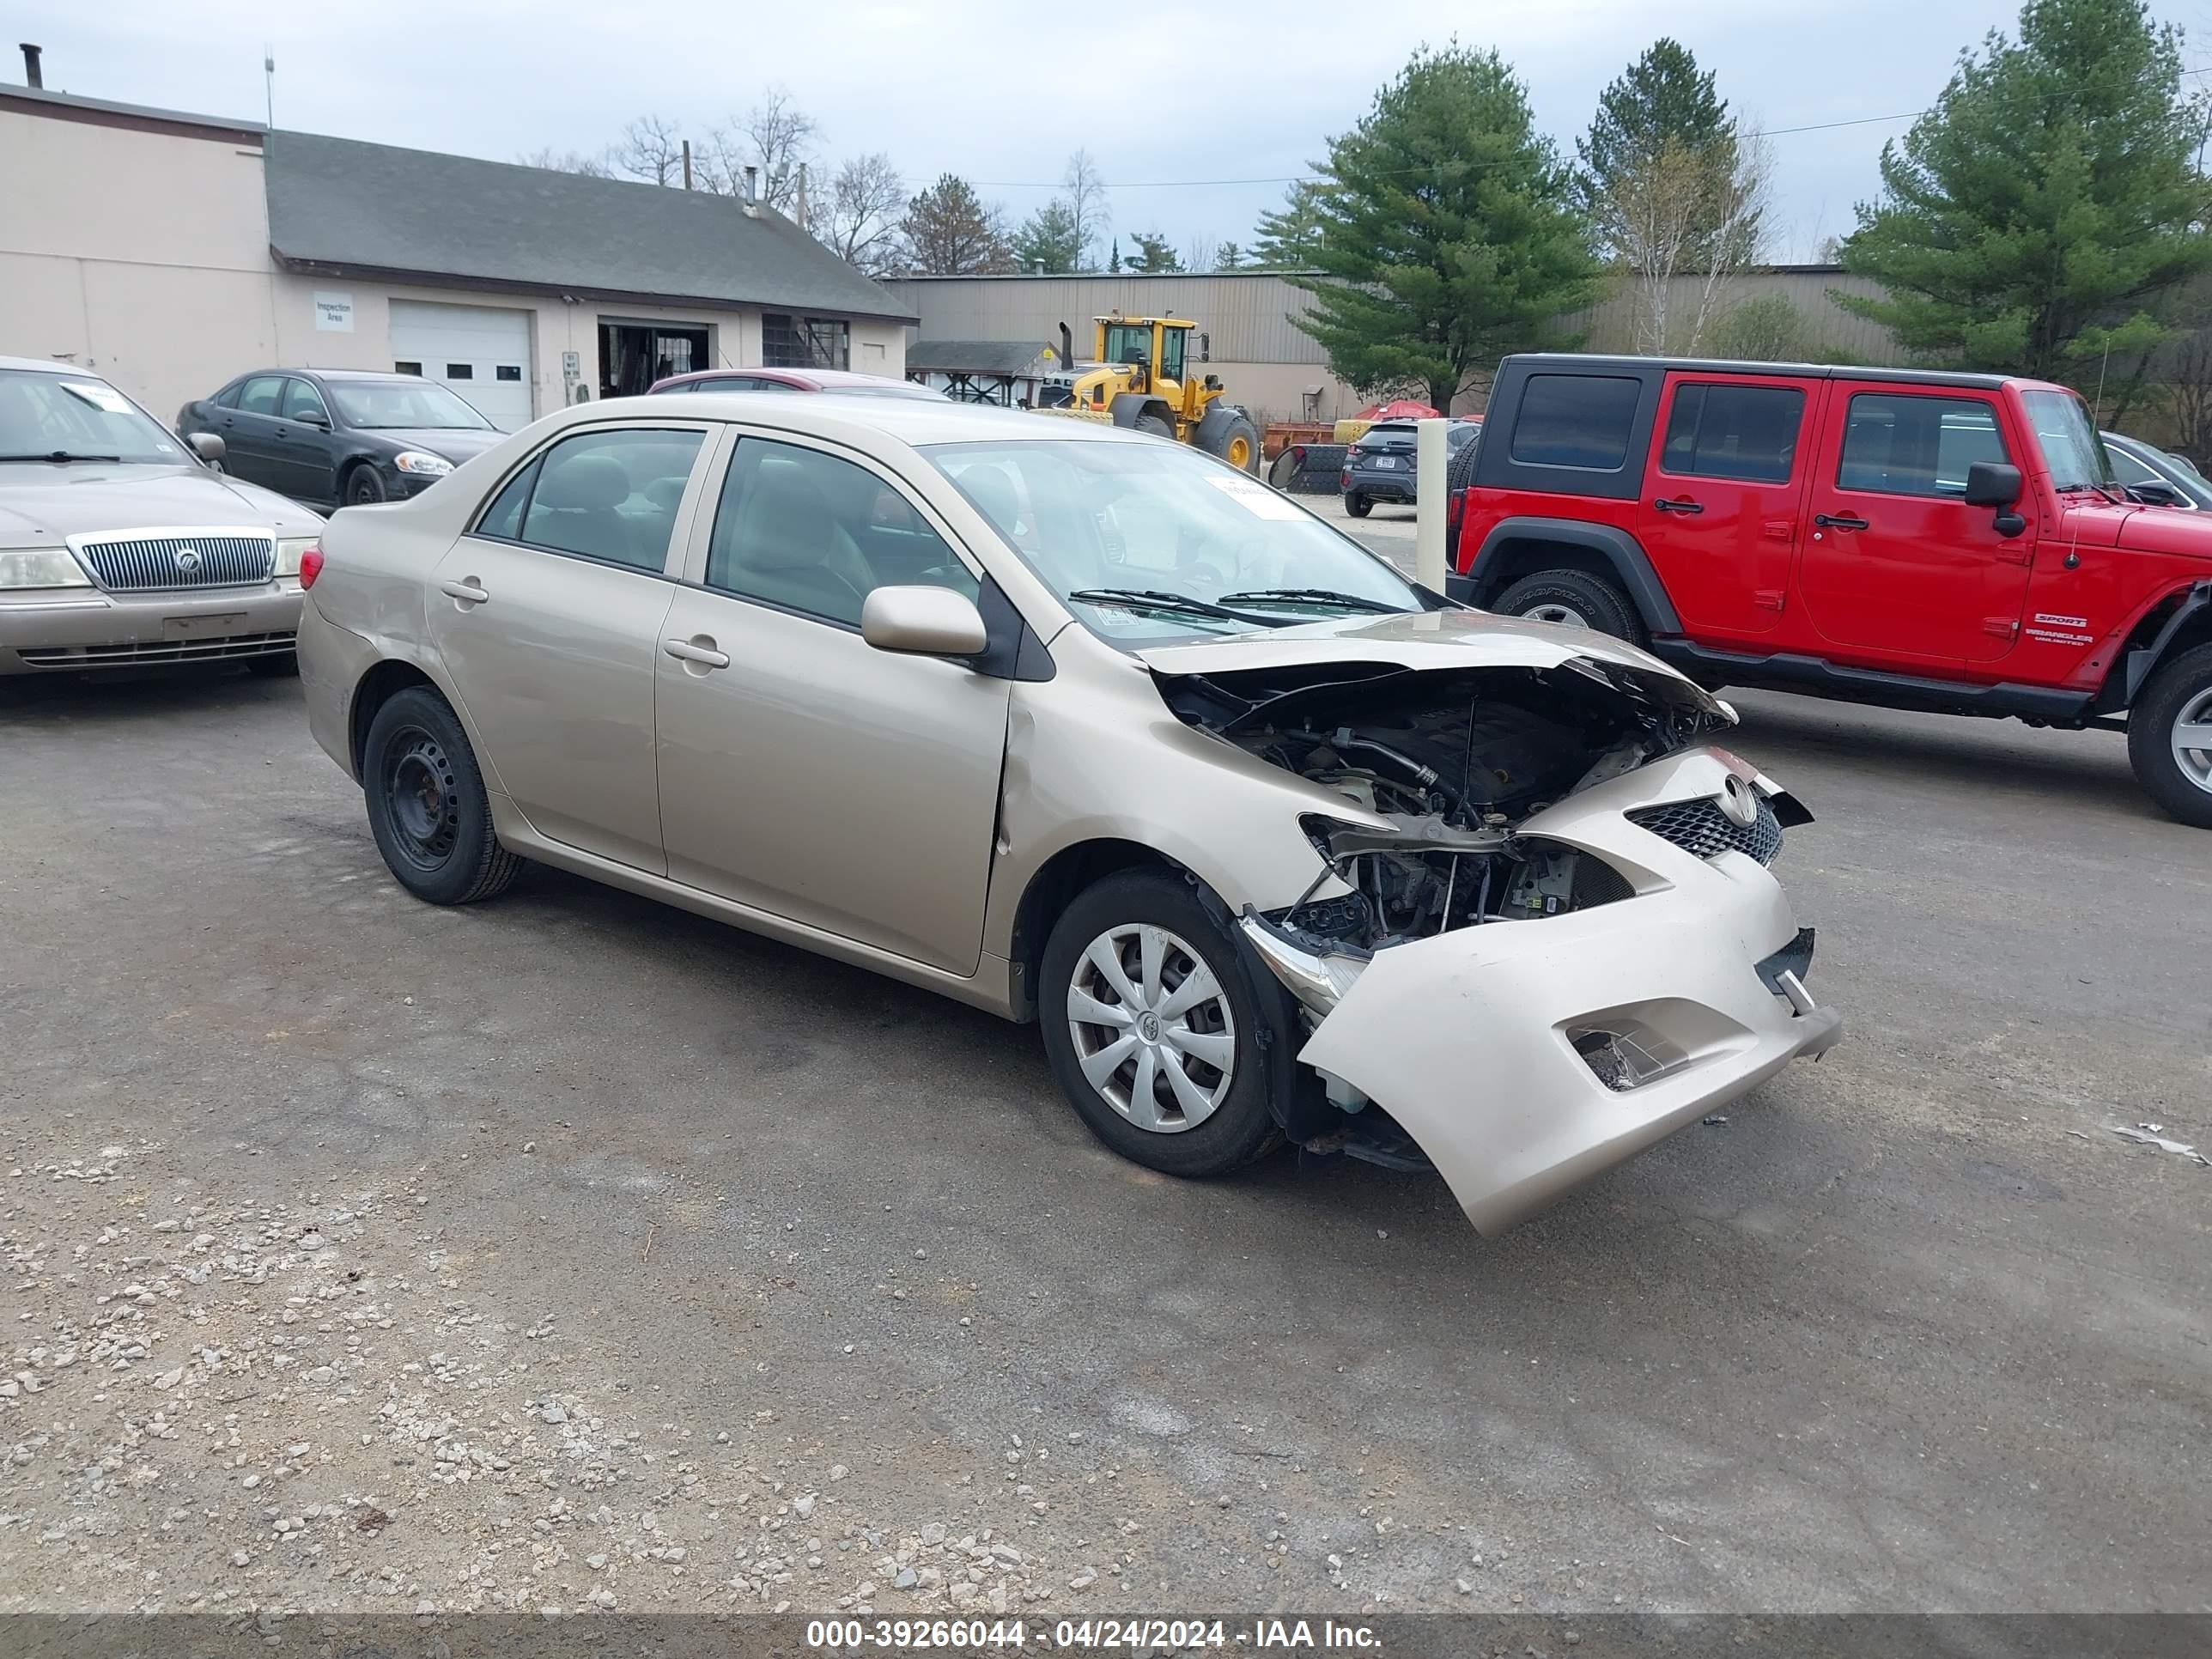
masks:
<path fill-rule="evenodd" d="M 0 354 L 164 420 L 263 365 L 513 429 L 703 367 L 905 374 L 914 312 L 730 197 L 0 86 Z"/>

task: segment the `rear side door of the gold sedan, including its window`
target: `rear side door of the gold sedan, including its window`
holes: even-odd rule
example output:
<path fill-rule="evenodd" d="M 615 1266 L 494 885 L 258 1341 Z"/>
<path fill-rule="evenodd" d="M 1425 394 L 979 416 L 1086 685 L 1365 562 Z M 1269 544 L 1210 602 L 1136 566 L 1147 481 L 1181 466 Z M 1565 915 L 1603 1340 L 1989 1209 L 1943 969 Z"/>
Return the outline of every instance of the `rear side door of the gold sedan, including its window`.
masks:
<path fill-rule="evenodd" d="M 491 498 L 422 599 L 491 787 L 551 841 L 655 876 L 655 672 L 714 434 L 566 431 Z"/>

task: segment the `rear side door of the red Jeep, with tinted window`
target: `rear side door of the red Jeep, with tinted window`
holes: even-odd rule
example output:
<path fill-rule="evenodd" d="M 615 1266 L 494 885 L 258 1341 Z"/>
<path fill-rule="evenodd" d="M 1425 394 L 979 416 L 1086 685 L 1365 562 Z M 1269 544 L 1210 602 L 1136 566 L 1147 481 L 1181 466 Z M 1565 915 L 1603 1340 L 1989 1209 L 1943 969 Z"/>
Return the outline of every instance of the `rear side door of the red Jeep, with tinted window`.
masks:
<path fill-rule="evenodd" d="M 1783 619 L 1807 403 L 1787 376 L 1672 374 L 1659 394 L 1637 538 L 1697 635 L 1754 639 Z"/>

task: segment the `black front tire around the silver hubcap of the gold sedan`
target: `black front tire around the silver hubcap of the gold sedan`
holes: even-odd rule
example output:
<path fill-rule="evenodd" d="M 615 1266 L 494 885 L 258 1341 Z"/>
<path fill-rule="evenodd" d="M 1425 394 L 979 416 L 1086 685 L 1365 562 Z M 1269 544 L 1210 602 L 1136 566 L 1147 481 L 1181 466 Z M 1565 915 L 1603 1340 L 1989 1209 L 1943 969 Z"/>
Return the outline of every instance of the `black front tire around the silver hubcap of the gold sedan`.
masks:
<path fill-rule="evenodd" d="M 1139 1128 L 1084 1077 L 1077 1037 L 1068 1022 L 1068 991 L 1077 984 L 1079 967 L 1091 973 L 1086 962 L 1091 942 L 1117 927 L 1159 927 L 1186 942 L 1214 975 L 1223 993 L 1221 1000 L 1228 1002 L 1234 1026 L 1228 1093 L 1210 1117 L 1190 1128 L 1175 1133 Z M 1166 989 L 1172 989 L 1175 958 L 1179 953 L 1170 953 L 1161 969 Z M 1285 1053 L 1283 1044 L 1296 1044 L 1298 1037 L 1294 1031 L 1279 1029 L 1281 998 L 1263 1000 L 1256 993 L 1245 956 L 1219 907 L 1206 905 L 1186 878 L 1159 869 L 1128 869 L 1106 876 L 1079 894 L 1044 945 L 1037 989 L 1044 1053 L 1060 1079 L 1060 1091 L 1075 1106 L 1077 1117 L 1091 1126 L 1091 1133 L 1121 1157 L 1161 1175 L 1199 1179 L 1243 1168 L 1279 1141 L 1274 1102 L 1270 1099 L 1270 1057 Z M 1214 1033 L 1219 1035 L 1217 1026 Z M 1137 1057 L 1133 1055 L 1124 1064 L 1124 1071 L 1133 1075 L 1124 1079 L 1115 1073 L 1110 1079 L 1130 1097 L 1135 1097 L 1135 1066 Z M 1203 1062 L 1186 1062 L 1186 1077 L 1201 1082 L 1208 1077 L 1208 1068 Z M 1212 1079 L 1219 1082 L 1219 1073 L 1212 1073 Z M 1201 1086 L 1208 1084 L 1201 1082 Z M 1164 1091 L 1164 1099 L 1172 1099 L 1164 1073 L 1157 1088 Z"/>

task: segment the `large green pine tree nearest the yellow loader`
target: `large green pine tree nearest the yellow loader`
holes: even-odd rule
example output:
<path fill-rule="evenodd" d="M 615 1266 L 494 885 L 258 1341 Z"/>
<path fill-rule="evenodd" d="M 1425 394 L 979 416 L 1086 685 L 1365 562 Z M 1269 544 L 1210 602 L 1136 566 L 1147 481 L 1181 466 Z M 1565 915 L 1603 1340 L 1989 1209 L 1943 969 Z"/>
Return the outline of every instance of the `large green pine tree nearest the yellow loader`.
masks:
<path fill-rule="evenodd" d="M 1294 319 L 1363 392 L 1429 403 L 1482 385 L 1498 358 L 1551 336 L 1599 288 L 1573 175 L 1537 135 L 1495 51 L 1422 49 L 1352 133 L 1329 144 L 1334 190 Z"/>

